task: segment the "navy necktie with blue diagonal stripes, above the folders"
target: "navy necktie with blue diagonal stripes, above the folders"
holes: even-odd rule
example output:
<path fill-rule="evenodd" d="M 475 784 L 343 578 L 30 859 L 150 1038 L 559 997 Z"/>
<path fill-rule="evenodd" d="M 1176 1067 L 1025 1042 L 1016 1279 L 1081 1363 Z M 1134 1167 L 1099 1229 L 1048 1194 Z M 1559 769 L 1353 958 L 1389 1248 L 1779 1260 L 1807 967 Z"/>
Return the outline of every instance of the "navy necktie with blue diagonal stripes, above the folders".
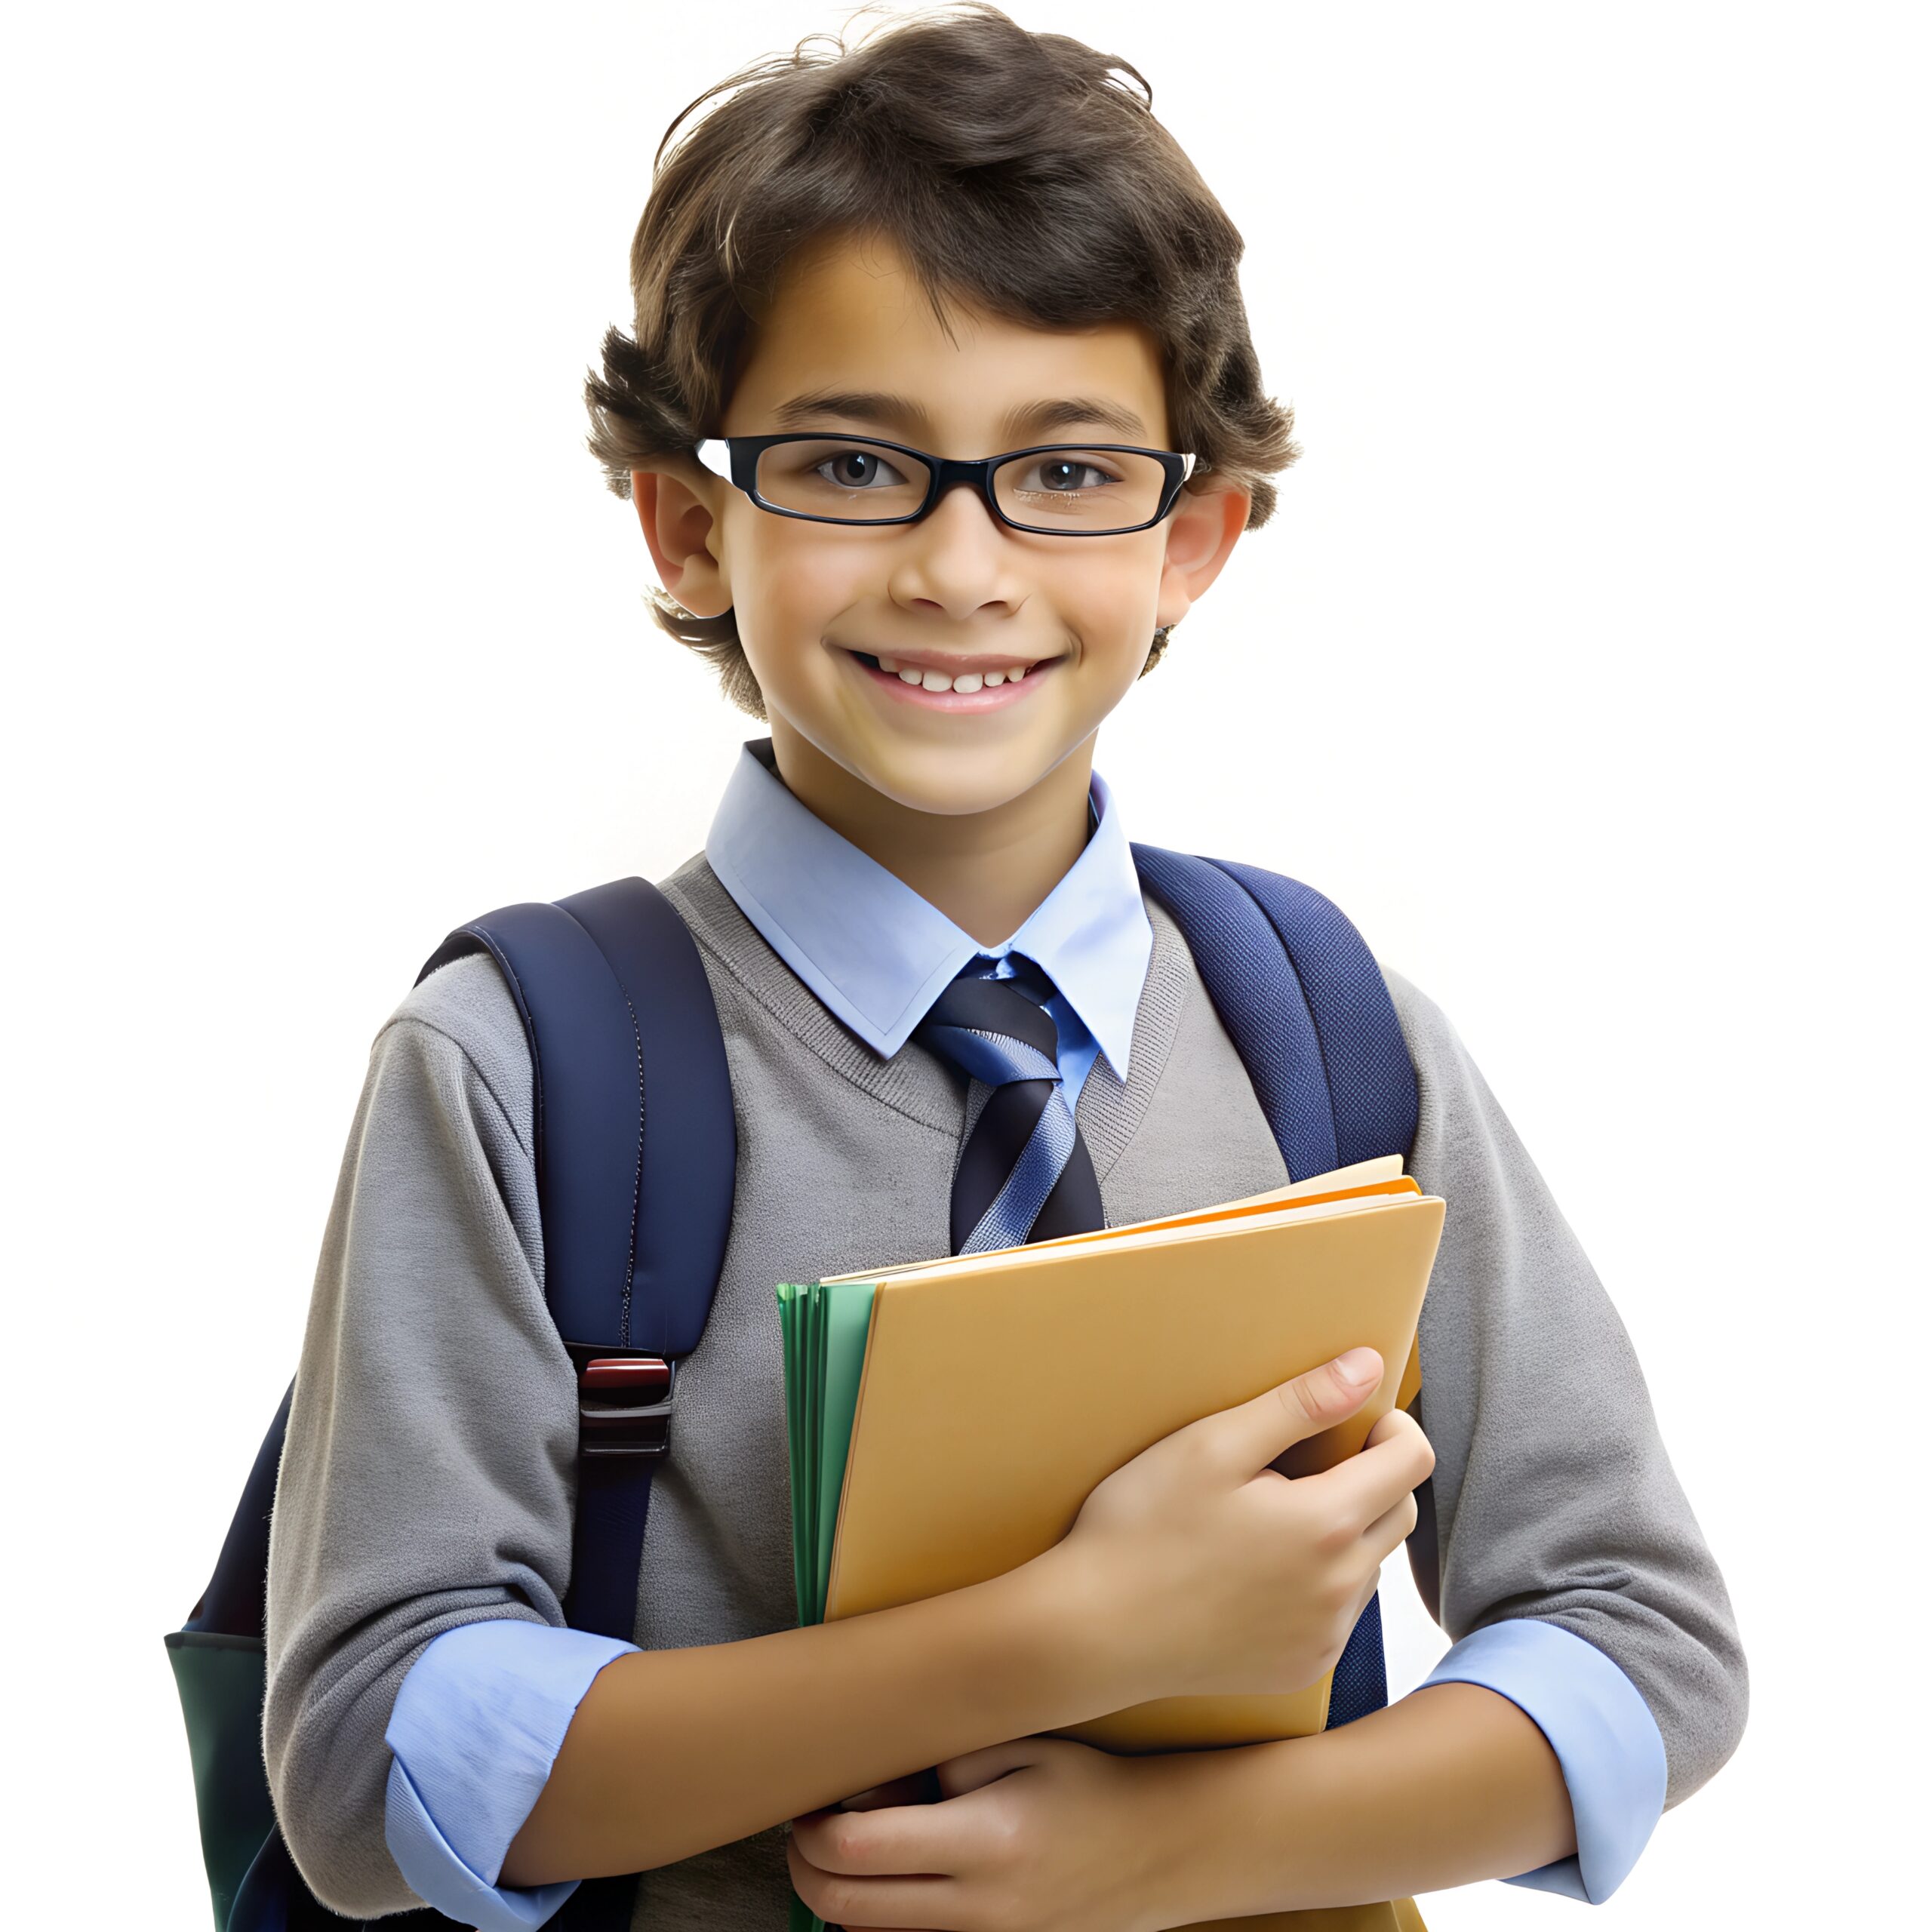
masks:
<path fill-rule="evenodd" d="M 933 1001 L 916 1037 L 993 1088 L 952 1177 L 952 1252 L 985 1254 L 1105 1227 L 1094 1159 L 1061 1092 L 1053 981 L 1022 954 L 985 954 Z"/>

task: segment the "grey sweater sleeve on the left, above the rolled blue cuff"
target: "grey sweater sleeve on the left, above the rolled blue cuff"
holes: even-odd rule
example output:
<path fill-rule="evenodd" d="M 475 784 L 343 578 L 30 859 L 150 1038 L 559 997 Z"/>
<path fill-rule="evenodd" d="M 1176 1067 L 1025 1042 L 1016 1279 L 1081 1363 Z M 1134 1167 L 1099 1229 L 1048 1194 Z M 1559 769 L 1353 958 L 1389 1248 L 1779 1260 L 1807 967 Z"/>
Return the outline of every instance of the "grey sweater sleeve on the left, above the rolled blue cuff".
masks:
<path fill-rule="evenodd" d="M 543 1302 L 529 1051 L 491 960 L 456 960 L 371 1051 L 270 1519 L 263 1754 L 332 1911 L 421 1903 L 384 1841 L 384 1731 L 412 1663 L 468 1623 L 562 1627 L 576 1434 Z"/>

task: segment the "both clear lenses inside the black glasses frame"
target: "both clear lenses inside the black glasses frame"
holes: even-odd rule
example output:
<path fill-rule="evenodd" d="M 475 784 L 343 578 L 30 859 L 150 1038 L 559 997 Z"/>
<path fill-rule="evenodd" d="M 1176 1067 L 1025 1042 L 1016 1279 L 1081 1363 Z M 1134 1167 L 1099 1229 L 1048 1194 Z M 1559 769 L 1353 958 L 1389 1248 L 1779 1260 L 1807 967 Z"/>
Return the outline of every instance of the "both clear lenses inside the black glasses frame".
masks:
<path fill-rule="evenodd" d="M 1151 456 L 1057 444 L 993 471 L 1001 510 L 1028 529 L 1101 533 L 1153 520 L 1167 473 Z M 912 516 L 931 489 L 931 464 L 854 437 L 775 442 L 757 460 L 757 493 L 781 510 L 838 524 Z"/>

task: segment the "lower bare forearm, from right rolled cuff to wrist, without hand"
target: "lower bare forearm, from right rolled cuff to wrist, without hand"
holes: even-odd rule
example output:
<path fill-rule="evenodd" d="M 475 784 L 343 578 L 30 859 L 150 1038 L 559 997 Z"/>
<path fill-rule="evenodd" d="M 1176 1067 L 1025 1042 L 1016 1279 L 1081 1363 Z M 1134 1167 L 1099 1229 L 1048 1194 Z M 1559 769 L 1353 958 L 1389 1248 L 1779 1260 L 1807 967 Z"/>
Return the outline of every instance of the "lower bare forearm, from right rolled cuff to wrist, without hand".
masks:
<path fill-rule="evenodd" d="M 1337 1731 L 1146 1760 L 1161 1924 L 1515 1878 L 1577 1849 L 1534 1719 L 1430 1685 Z"/>

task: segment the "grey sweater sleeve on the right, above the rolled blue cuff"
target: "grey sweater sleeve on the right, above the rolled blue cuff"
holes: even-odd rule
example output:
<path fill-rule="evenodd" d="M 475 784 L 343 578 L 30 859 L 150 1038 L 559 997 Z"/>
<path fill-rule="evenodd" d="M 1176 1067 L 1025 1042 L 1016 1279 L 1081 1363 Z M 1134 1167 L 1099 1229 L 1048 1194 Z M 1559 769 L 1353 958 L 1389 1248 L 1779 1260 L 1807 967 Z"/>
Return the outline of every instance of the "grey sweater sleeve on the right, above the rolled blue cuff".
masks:
<path fill-rule="evenodd" d="M 1441 1009 L 1385 978 L 1422 1099 L 1410 1173 L 1449 1204 L 1422 1306 L 1435 1472 L 1410 1538 L 1416 1586 L 1459 1644 L 1540 1619 L 1609 1658 L 1656 1721 L 1662 1803 L 1677 1804 L 1745 1727 L 1723 1577 L 1631 1339 L 1542 1175 Z"/>

